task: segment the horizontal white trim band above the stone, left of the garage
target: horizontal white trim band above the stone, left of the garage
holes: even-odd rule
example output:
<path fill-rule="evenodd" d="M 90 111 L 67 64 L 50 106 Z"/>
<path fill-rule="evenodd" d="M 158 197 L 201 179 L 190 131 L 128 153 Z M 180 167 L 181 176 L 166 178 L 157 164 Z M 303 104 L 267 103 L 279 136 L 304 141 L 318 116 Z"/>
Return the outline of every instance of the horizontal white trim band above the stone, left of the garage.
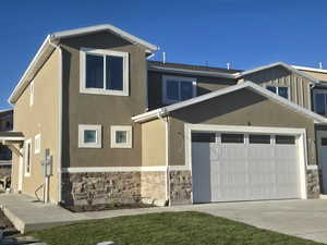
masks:
<path fill-rule="evenodd" d="M 97 172 L 162 172 L 167 166 L 142 167 L 76 167 L 62 168 L 63 173 L 97 173 Z"/>

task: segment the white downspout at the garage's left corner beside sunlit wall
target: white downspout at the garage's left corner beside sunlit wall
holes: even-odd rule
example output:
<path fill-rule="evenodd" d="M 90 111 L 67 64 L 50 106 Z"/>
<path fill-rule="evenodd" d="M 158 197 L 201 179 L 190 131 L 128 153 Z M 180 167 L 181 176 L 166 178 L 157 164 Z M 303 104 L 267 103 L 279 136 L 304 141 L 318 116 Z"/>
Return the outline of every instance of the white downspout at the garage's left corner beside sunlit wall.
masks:
<path fill-rule="evenodd" d="M 166 115 L 164 119 L 162 115 Z M 170 204 L 170 176 L 169 176 L 169 115 L 165 110 L 161 110 L 157 114 L 158 119 L 165 123 L 165 134 L 166 134 L 166 205 Z"/>

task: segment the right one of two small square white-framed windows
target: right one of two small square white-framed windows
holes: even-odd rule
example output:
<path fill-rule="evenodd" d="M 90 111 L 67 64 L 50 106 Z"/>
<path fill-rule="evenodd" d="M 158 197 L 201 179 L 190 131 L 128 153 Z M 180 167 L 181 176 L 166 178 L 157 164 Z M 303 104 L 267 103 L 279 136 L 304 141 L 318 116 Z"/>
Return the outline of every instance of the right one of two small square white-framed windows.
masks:
<path fill-rule="evenodd" d="M 111 148 L 132 148 L 132 126 L 111 126 Z"/>

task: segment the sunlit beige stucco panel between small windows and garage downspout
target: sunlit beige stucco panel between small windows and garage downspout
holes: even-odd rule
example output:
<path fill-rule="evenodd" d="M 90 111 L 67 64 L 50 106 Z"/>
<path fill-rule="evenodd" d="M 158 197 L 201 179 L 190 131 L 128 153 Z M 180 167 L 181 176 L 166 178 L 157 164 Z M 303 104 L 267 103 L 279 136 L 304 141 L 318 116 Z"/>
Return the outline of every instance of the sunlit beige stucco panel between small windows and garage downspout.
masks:
<path fill-rule="evenodd" d="M 142 166 L 166 166 L 166 122 L 142 124 Z"/>

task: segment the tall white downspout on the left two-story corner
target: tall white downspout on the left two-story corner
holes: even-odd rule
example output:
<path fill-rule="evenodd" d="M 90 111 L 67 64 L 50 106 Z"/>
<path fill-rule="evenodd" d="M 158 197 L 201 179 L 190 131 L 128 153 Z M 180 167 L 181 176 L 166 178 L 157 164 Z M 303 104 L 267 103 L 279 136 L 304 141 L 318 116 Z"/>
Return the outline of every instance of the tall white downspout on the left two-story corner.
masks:
<path fill-rule="evenodd" d="M 60 45 L 51 42 L 49 45 L 55 47 L 59 52 L 59 84 L 58 84 L 58 203 L 62 201 L 62 48 Z"/>

